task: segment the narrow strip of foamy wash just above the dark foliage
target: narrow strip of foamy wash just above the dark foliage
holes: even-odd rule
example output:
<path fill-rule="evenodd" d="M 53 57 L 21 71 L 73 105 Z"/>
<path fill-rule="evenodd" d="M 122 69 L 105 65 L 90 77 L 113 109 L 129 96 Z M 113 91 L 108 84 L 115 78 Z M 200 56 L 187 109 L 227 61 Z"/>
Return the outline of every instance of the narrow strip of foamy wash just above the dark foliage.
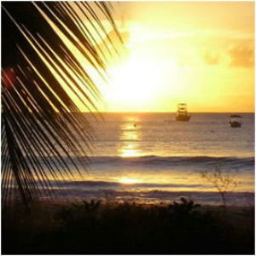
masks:
<path fill-rule="evenodd" d="M 220 206 L 221 196 L 215 191 L 167 191 L 151 190 L 115 190 L 115 189 L 55 189 L 59 201 L 116 201 L 136 202 L 139 204 L 170 204 L 185 197 L 201 205 Z M 49 198 L 44 198 L 45 200 Z M 229 192 L 226 194 L 227 206 L 250 207 L 254 206 L 254 192 Z"/>

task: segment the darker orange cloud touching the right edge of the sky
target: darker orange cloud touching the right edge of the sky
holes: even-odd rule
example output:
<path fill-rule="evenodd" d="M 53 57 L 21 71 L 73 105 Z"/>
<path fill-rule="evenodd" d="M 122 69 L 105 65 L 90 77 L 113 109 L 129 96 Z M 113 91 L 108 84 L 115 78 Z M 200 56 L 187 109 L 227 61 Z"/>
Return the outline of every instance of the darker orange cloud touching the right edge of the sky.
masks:
<path fill-rule="evenodd" d="M 253 67 L 254 50 L 247 45 L 237 45 L 232 47 L 229 52 L 230 67 Z"/>

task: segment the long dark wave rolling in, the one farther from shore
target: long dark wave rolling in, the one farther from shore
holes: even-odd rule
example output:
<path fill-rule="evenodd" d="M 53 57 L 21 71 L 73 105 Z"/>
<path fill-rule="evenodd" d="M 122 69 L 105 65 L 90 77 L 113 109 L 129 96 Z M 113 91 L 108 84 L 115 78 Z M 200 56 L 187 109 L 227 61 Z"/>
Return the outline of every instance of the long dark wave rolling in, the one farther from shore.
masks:
<path fill-rule="evenodd" d="M 3 156 L 2 156 L 3 157 Z M 48 159 L 49 160 L 49 159 Z M 58 163 L 54 157 L 50 158 L 51 161 Z M 71 161 L 67 160 L 67 164 Z M 230 157 L 230 156 L 157 156 L 157 155 L 144 155 L 137 157 L 121 157 L 121 156 L 90 156 L 90 157 L 73 157 L 73 161 L 79 166 L 79 162 L 86 161 L 90 166 L 99 166 L 103 170 L 104 167 L 112 166 L 141 166 L 141 167 L 154 167 L 154 168 L 168 168 L 168 167 L 210 167 L 220 166 L 231 169 L 253 170 L 255 165 L 254 157 Z M 44 161 L 42 160 L 42 165 Z"/>

